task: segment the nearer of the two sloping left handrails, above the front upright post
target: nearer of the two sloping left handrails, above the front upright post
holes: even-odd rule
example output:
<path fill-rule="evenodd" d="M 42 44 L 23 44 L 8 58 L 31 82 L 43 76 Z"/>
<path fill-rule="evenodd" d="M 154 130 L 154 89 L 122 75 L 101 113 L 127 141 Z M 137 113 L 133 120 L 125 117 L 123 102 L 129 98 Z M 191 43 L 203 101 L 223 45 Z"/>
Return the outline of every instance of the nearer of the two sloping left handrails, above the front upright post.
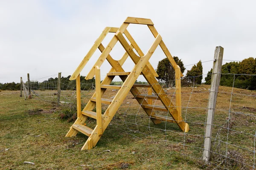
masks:
<path fill-rule="evenodd" d="M 123 33 L 123 31 L 125 31 L 125 29 L 128 27 L 128 23 L 123 23 L 122 26 L 120 26 L 120 28 L 118 29 L 119 32 Z M 117 32 L 118 32 L 117 31 Z M 112 38 L 112 40 L 108 43 L 107 48 L 105 48 L 105 50 L 102 52 L 102 54 L 100 55 L 99 59 L 96 61 L 95 65 L 98 65 L 99 67 L 102 65 L 102 63 L 105 61 L 105 59 L 108 57 L 110 51 L 112 50 L 112 48 L 116 45 L 117 42 L 117 38 L 116 36 L 114 36 Z M 98 48 L 98 47 L 97 47 Z M 85 79 L 92 79 L 95 75 L 95 69 L 94 66 L 93 68 L 90 70 L 90 72 L 87 74 L 87 76 L 85 77 Z M 113 65 L 112 65 L 113 67 Z"/>

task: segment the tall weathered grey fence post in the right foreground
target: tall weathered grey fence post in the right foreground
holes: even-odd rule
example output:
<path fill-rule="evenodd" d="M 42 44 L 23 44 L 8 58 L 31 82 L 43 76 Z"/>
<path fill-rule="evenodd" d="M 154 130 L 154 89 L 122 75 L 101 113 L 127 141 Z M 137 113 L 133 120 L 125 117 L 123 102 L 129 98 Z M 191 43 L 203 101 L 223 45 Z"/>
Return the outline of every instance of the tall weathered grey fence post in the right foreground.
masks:
<path fill-rule="evenodd" d="M 212 142 L 212 124 L 215 113 L 215 106 L 217 101 L 218 88 L 221 80 L 221 66 L 223 59 L 223 51 L 224 48 L 218 46 L 215 48 L 214 53 L 214 61 L 212 66 L 212 80 L 211 80 L 211 88 L 209 93 L 209 101 L 208 101 L 208 111 L 207 111 L 207 123 L 204 137 L 204 153 L 203 160 L 210 160 L 210 150 L 211 150 L 211 142 Z"/>

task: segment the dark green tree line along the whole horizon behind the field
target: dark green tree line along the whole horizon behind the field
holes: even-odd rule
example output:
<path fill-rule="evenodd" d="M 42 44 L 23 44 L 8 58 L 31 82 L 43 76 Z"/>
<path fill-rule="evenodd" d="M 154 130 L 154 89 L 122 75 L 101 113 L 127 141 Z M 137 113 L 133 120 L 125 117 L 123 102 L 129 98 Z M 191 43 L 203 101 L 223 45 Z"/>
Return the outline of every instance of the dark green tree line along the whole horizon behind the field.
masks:
<path fill-rule="evenodd" d="M 180 71 L 184 73 L 186 68 L 184 67 L 183 61 L 178 57 L 173 57 L 177 65 L 180 66 Z M 165 58 L 158 62 L 157 77 L 158 81 L 164 83 L 166 87 L 173 87 L 175 85 L 175 69 L 172 67 L 169 59 Z M 256 74 L 256 59 L 249 57 L 242 60 L 241 62 L 227 62 L 222 65 L 221 69 L 221 82 L 220 85 L 230 86 L 236 88 L 244 88 L 249 90 L 256 90 L 256 76 L 250 76 Z M 193 65 L 190 70 L 187 71 L 186 75 L 181 79 L 181 85 L 200 85 L 203 79 L 203 66 L 201 60 L 196 65 Z M 212 69 L 208 72 L 205 77 L 205 84 L 211 84 Z M 61 90 L 75 90 L 76 81 L 70 81 L 67 77 L 61 77 Z M 89 90 L 93 84 L 95 87 L 95 79 L 86 80 L 84 76 L 80 77 L 81 90 Z M 43 82 L 31 81 L 32 90 L 56 90 L 58 78 L 49 78 Z M 27 82 L 26 82 L 27 83 Z M 138 82 L 145 84 L 147 82 Z M 122 82 L 111 82 L 111 85 L 122 85 Z M 0 83 L 1 90 L 20 90 L 20 83 Z"/>

